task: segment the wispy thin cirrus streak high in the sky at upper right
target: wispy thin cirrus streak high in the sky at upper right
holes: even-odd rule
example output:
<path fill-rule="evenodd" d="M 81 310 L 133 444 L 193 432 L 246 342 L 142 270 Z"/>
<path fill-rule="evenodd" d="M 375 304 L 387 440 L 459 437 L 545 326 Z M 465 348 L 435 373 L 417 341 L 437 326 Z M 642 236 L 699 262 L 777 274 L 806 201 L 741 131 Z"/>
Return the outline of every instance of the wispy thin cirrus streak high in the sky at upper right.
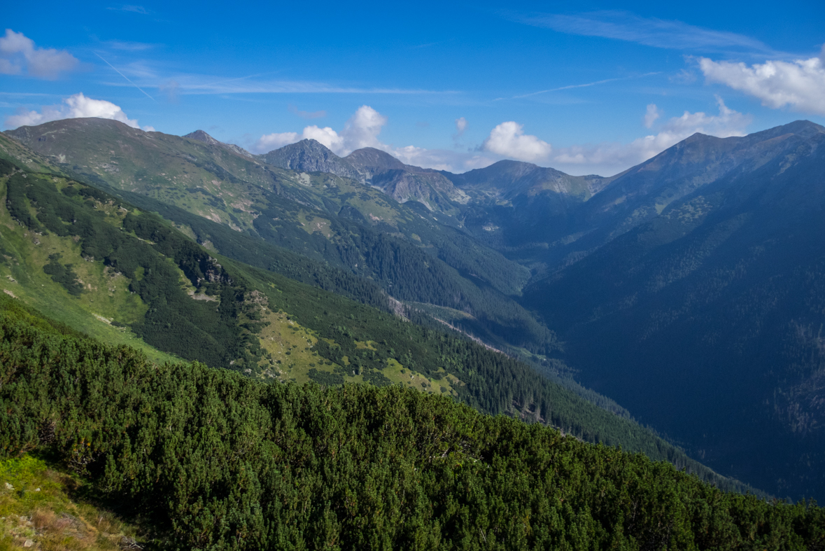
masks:
<path fill-rule="evenodd" d="M 577 14 L 505 14 L 526 25 L 544 27 L 569 35 L 600 36 L 654 48 L 712 52 L 747 51 L 766 55 L 776 52 L 760 40 L 728 31 L 715 31 L 682 21 L 640 17 L 631 12 L 610 10 Z"/>

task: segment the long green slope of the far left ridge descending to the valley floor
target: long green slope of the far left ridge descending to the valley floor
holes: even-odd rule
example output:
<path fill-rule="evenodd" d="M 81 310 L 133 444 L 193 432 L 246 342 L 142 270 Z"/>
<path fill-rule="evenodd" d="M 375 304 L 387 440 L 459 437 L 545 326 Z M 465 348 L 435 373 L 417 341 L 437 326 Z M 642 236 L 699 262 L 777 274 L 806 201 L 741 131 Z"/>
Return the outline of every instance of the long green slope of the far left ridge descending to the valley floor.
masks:
<path fill-rule="evenodd" d="M 426 209 L 399 205 L 369 186 L 281 170 L 220 145 L 111 120 L 55 121 L 9 135 L 134 204 L 178 206 L 372 278 L 396 299 L 463 310 L 471 316 L 464 330 L 497 346 L 556 349 L 552 333 L 507 296 L 529 271 Z"/>

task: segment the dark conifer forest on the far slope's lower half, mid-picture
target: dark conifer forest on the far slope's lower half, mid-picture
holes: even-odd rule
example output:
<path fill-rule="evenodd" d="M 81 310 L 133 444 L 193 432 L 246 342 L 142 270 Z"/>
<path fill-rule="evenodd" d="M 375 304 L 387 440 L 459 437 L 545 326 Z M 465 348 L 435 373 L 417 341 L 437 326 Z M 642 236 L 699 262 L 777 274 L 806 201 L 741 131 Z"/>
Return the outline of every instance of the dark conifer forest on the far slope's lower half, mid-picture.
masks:
<path fill-rule="evenodd" d="M 484 262 L 474 259 L 482 255 L 481 247 L 474 246 L 466 236 L 451 229 L 434 232 L 423 222 L 411 223 L 417 232 L 440 243 L 438 249 L 421 248 L 399 238 L 393 228 L 380 231 L 380 228 L 323 214 L 330 219 L 331 231 L 342 236 L 331 241 L 321 233 L 308 234 L 296 225 L 299 224 L 296 216 L 300 205 L 283 197 L 276 199 L 270 200 L 269 208 L 262 210 L 254 223 L 258 236 L 266 242 L 370 277 L 396 299 L 466 310 L 473 317 L 456 321 L 456 325 L 488 341 L 502 346 L 521 346 L 540 354 L 558 351 L 553 332 L 502 294 L 496 285 L 489 285 L 479 278 L 477 273 L 484 273 L 479 264 Z M 463 251 L 460 246 L 464 247 Z M 453 266 L 445 259 L 452 261 Z M 487 260 L 489 265 L 506 262 L 504 257 L 493 252 Z M 500 269 L 502 279 L 507 273 L 503 266 L 484 267 L 485 271 Z"/>

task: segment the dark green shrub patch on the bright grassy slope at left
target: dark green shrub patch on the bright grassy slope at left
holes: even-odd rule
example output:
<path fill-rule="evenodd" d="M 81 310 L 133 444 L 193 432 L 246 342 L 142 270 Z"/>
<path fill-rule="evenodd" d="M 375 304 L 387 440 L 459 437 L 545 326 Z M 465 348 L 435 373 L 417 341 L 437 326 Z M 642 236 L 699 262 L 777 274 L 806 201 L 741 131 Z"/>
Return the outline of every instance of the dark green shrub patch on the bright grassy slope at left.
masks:
<path fill-rule="evenodd" d="M 127 214 L 118 227 L 98 208 L 121 207 L 115 198 L 87 186 L 71 188 L 79 189 L 61 194 L 43 177 L 12 175 L 8 178 L 9 211 L 30 228 L 42 231 L 45 227 L 60 236 L 77 236 L 83 257 L 102 260 L 129 277 L 130 290 L 149 307 L 132 329 L 148 344 L 209 365 L 233 365 L 235 369 L 257 366 L 260 345 L 252 332 L 242 327 L 246 320 L 243 285 L 234 282 L 202 247 L 157 216 Z M 26 198 L 43 227 L 31 217 Z M 189 298 L 181 288 L 177 269 L 196 289 L 218 296 L 219 306 Z M 70 265 L 63 266 L 53 257 L 44 271 L 69 293 L 82 291 Z"/>

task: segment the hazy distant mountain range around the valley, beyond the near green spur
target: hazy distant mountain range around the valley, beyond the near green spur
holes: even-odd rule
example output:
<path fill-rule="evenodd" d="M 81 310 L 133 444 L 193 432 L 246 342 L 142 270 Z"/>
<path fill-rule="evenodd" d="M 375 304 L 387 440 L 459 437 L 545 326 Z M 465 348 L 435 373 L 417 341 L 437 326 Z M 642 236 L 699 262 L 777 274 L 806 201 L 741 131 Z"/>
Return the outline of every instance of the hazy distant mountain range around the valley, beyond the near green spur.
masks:
<path fill-rule="evenodd" d="M 252 155 L 97 119 L 5 135 L 19 166 L 156 212 L 221 266 L 385 296 L 720 473 L 825 495 L 822 126 L 695 134 L 613 177 L 515 161 L 453 174 L 314 140 Z"/>

